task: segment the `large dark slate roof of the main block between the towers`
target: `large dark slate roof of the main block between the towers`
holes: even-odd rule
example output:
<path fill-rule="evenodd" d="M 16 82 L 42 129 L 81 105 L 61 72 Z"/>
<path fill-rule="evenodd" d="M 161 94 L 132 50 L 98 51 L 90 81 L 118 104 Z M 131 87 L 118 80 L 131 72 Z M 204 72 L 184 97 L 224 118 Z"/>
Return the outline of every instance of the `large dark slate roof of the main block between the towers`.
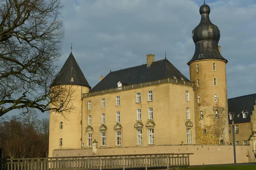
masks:
<path fill-rule="evenodd" d="M 173 79 L 174 77 L 177 79 L 183 78 L 183 80 L 189 82 L 189 79 L 180 73 L 180 71 L 178 71 L 171 62 L 167 59 L 162 59 L 152 62 L 148 67 L 146 64 L 143 64 L 118 71 L 111 71 L 106 77 L 104 77 L 104 79 L 102 79 L 102 81 L 94 86 L 90 92 L 117 88 L 117 83 L 119 81 L 122 82 L 123 85 L 132 85 L 158 79 Z"/>

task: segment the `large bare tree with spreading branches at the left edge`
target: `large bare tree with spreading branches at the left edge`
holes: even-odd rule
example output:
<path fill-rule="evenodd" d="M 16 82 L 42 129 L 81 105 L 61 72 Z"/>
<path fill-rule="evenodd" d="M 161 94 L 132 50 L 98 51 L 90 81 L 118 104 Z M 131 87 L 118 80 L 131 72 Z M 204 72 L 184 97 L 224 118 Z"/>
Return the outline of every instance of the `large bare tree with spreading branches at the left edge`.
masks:
<path fill-rule="evenodd" d="M 0 0 L 0 116 L 21 108 L 49 111 L 51 102 L 57 113 L 72 109 L 69 101 L 61 110 L 56 105 L 70 88 L 49 88 L 64 37 L 60 8 L 60 0 Z"/>

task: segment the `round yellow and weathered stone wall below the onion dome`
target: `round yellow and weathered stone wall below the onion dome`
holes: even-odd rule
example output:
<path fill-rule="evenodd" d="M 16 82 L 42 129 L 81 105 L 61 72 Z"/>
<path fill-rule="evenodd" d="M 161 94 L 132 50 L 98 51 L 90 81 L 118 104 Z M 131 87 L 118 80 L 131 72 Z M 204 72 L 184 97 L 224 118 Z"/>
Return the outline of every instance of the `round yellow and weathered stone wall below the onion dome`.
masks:
<path fill-rule="evenodd" d="M 216 64 L 215 71 L 213 71 L 213 63 Z M 190 63 L 189 68 L 190 81 L 195 83 L 196 143 L 220 144 L 220 140 L 223 140 L 224 144 L 229 144 L 226 63 L 223 60 L 204 59 Z M 214 78 L 217 80 L 216 86 Z M 215 102 L 215 94 L 218 97 L 217 102 Z M 201 119 L 201 111 L 203 111 L 203 119 Z M 215 118 L 215 111 L 218 111 L 218 119 Z"/>

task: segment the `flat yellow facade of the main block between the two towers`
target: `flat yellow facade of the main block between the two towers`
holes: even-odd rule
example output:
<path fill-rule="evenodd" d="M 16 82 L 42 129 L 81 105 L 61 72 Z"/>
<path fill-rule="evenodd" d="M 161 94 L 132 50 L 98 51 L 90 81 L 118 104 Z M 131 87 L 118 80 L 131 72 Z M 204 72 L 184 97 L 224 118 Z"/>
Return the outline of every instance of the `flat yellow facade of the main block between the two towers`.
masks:
<path fill-rule="evenodd" d="M 148 102 L 148 91 L 153 92 L 153 101 Z M 190 101 L 186 101 L 186 91 L 190 93 Z M 141 94 L 141 102 L 137 103 L 137 93 Z M 120 105 L 116 106 L 116 96 L 120 97 Z M 102 108 L 102 99 L 105 99 L 105 108 Z M 190 121 L 194 124 L 194 97 L 193 88 L 185 85 L 161 84 L 144 88 L 136 88 L 111 94 L 91 96 L 83 99 L 84 119 L 82 141 L 87 147 L 88 115 L 92 115 L 93 140 L 96 139 L 98 147 L 142 147 L 148 146 L 149 121 L 148 108 L 153 108 L 154 145 L 186 143 L 186 108 L 190 110 Z M 91 101 L 91 110 L 87 109 Z M 137 145 L 137 109 L 141 109 L 143 124 L 143 144 Z M 122 144 L 116 146 L 116 112 L 120 112 L 120 125 L 122 126 Z M 102 113 L 105 113 L 106 146 L 101 146 Z M 195 144 L 195 125 L 191 128 L 192 144 Z M 84 148 L 86 148 L 84 147 Z"/>

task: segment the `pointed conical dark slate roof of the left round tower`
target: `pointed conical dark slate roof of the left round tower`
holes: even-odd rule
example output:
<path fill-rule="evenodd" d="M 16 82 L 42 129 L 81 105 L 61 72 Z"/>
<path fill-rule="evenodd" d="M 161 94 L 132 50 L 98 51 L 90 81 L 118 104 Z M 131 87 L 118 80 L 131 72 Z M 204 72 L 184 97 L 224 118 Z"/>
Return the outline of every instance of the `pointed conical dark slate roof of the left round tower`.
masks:
<path fill-rule="evenodd" d="M 72 52 L 51 86 L 55 85 L 82 85 L 91 88 Z"/>

